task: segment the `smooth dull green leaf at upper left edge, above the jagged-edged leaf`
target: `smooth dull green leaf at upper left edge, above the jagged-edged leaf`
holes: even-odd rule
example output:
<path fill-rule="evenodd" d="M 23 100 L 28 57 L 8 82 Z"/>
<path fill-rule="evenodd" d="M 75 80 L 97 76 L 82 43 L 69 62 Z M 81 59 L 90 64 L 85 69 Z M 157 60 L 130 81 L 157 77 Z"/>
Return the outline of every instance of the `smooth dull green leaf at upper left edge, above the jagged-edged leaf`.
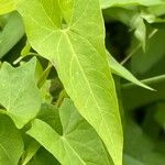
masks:
<path fill-rule="evenodd" d="M 3 57 L 23 36 L 24 26 L 18 12 L 6 15 L 7 24 L 0 34 L 0 58 Z M 13 31 L 13 26 L 16 31 Z"/>

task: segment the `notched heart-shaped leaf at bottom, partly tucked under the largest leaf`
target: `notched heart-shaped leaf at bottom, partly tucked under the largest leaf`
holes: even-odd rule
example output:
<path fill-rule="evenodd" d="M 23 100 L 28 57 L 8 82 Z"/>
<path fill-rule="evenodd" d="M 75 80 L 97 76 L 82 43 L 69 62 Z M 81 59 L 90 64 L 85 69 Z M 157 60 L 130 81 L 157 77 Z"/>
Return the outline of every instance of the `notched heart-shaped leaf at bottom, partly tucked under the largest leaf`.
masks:
<path fill-rule="evenodd" d="M 110 165 L 103 144 L 96 131 L 66 99 L 59 110 L 63 134 L 47 123 L 35 119 L 28 131 L 64 165 Z M 87 154 L 88 153 L 88 154 Z"/>

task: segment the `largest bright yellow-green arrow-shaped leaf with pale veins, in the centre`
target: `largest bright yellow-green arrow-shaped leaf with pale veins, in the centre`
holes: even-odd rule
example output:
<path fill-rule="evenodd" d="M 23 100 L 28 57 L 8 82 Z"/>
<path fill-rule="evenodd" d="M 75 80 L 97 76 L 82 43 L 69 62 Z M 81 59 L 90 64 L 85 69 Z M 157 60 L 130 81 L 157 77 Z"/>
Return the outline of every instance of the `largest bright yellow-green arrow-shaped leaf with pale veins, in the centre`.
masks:
<path fill-rule="evenodd" d="M 121 165 L 122 127 L 99 0 L 59 2 L 61 7 L 51 0 L 19 2 L 30 44 L 55 65 L 78 111 Z"/>

